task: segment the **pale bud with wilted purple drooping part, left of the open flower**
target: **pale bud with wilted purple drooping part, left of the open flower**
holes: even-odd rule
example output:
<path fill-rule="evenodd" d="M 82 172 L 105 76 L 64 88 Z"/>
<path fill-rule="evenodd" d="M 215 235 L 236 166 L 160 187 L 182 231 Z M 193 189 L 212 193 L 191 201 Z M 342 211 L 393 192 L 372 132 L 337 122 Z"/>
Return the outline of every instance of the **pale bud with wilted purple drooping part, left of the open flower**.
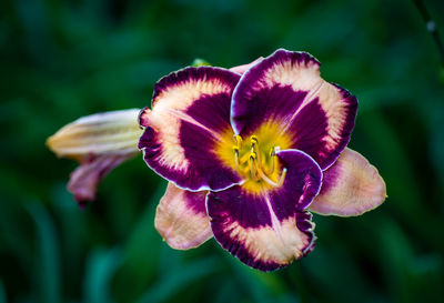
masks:
<path fill-rule="evenodd" d="M 70 176 L 68 190 L 81 206 L 95 199 L 100 181 L 122 162 L 139 153 L 142 130 L 140 110 L 121 110 L 87 115 L 51 135 L 47 145 L 58 155 L 80 162 Z"/>

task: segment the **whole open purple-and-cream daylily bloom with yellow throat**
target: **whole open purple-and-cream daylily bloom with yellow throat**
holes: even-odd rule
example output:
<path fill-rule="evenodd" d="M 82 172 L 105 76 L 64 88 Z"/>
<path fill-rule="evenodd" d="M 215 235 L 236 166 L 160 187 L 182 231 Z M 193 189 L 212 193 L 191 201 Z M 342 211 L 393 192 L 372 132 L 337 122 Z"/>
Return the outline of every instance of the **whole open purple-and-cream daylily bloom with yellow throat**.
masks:
<path fill-rule="evenodd" d="M 346 149 L 356 109 L 304 52 L 162 78 L 139 115 L 144 161 L 170 181 L 158 231 L 182 250 L 214 236 L 262 271 L 306 255 L 310 211 L 359 215 L 386 196 L 377 170 Z"/>

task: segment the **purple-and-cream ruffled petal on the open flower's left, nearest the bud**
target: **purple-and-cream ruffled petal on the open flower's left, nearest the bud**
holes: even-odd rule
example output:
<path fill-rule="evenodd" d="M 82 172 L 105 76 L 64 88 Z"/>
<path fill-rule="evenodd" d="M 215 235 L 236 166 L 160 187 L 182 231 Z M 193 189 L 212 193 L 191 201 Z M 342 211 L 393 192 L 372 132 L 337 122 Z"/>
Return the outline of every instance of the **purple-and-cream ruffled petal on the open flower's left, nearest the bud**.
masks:
<path fill-rule="evenodd" d="M 240 75 L 219 68 L 186 68 L 154 87 L 153 109 L 140 114 L 139 148 L 147 164 L 178 186 L 220 190 L 240 182 L 218 160 L 230 125 L 230 102 Z"/>

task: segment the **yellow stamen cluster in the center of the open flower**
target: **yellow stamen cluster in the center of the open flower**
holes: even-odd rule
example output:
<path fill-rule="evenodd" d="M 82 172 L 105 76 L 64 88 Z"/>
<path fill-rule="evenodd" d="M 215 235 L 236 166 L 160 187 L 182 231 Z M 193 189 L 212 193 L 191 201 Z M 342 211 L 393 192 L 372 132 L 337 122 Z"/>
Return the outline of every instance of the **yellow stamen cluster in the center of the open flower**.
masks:
<path fill-rule="evenodd" d="M 279 173 L 280 164 L 276 155 L 279 147 L 261 145 L 256 135 L 250 138 L 250 144 L 240 135 L 235 135 L 234 139 L 236 143 L 233 147 L 234 165 L 238 173 L 245 178 L 246 182 L 265 182 L 272 188 L 282 186 L 286 169 Z"/>

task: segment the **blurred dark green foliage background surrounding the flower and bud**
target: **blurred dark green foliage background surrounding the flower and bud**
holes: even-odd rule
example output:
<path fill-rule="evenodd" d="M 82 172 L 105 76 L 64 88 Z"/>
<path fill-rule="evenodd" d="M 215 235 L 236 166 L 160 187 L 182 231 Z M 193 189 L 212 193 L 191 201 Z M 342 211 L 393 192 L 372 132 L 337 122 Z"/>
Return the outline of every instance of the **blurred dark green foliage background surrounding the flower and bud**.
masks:
<path fill-rule="evenodd" d="M 444 30 L 444 2 L 425 1 Z M 444 85 L 411 1 L 11 0 L 0 3 L 0 302 L 443 302 Z M 70 160 L 46 138 L 100 111 L 142 108 L 162 75 L 304 50 L 357 95 L 351 148 L 389 199 L 315 215 L 316 249 L 260 273 L 214 240 L 174 251 L 153 228 L 165 182 L 141 156 L 79 210 Z"/>

